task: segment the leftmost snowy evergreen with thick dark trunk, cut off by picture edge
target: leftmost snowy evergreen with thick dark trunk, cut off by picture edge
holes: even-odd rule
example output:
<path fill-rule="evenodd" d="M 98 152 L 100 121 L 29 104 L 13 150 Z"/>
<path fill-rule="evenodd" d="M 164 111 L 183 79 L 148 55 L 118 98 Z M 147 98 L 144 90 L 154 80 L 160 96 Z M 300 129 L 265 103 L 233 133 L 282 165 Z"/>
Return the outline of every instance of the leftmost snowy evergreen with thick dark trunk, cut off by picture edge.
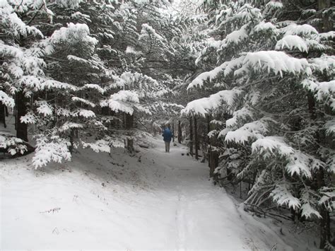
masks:
<path fill-rule="evenodd" d="M 45 62 L 36 44 L 44 35 L 32 25 L 37 12 L 48 13 L 45 1 L 22 1 L 20 4 L 0 1 L 0 101 L 10 109 L 15 108 L 17 137 L 3 134 L 1 148 L 12 155 L 28 150 L 22 145 L 27 145 L 23 141 L 28 141 L 23 117 L 27 114 L 33 93 L 42 88 L 40 78 L 45 77 Z"/>

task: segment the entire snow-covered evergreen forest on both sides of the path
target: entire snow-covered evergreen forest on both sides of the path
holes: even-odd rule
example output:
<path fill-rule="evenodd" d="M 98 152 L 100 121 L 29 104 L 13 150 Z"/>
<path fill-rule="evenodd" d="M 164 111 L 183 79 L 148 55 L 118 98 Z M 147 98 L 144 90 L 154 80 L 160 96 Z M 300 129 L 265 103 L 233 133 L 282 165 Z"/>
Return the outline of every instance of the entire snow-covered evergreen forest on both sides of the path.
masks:
<path fill-rule="evenodd" d="M 246 211 L 335 249 L 331 0 L 0 0 L 0 17 L 8 156 L 132 153 L 168 125 L 215 184 L 246 187 Z"/>

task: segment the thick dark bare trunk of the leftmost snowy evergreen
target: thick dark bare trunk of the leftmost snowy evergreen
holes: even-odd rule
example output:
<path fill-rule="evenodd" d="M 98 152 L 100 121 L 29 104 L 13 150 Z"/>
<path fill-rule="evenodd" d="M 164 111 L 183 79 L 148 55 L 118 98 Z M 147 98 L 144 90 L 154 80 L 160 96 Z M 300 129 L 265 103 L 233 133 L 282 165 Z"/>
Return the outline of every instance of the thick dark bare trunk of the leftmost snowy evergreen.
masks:
<path fill-rule="evenodd" d="M 27 102 L 23 91 L 16 93 L 16 137 L 24 141 L 28 141 L 28 127 L 27 124 L 21 123 L 20 117 L 27 114 Z"/>

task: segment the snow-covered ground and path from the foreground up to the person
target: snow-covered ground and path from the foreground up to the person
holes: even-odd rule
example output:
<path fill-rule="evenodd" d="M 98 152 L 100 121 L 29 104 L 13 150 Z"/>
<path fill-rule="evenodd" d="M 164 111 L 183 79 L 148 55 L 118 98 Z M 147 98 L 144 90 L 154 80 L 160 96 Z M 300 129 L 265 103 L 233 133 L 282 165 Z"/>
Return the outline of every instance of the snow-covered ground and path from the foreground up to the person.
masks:
<path fill-rule="evenodd" d="M 206 164 L 153 143 L 40 170 L 30 157 L 1 161 L 1 249 L 287 250 L 208 181 Z"/>

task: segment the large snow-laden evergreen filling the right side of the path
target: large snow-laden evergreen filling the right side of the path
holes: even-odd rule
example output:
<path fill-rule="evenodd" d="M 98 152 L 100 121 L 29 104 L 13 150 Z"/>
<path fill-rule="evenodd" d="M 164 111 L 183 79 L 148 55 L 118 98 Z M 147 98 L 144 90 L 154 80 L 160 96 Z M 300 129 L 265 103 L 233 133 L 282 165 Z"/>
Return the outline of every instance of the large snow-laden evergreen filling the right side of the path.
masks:
<path fill-rule="evenodd" d="M 215 66 L 189 88 L 216 93 L 182 113 L 228 113 L 221 132 L 210 134 L 223 146 L 224 168 L 216 172 L 227 168 L 237 180 L 253 182 L 246 204 L 259 207 L 272 199 L 302 217 L 322 218 L 324 247 L 334 210 L 335 33 L 317 30 L 313 13 L 326 15 L 329 8 L 317 9 L 313 1 L 314 11 L 299 6 L 290 16 L 292 3 L 268 1 L 260 9 L 248 2 L 211 8 L 213 38 L 197 63 Z"/>

